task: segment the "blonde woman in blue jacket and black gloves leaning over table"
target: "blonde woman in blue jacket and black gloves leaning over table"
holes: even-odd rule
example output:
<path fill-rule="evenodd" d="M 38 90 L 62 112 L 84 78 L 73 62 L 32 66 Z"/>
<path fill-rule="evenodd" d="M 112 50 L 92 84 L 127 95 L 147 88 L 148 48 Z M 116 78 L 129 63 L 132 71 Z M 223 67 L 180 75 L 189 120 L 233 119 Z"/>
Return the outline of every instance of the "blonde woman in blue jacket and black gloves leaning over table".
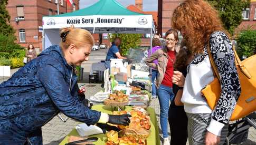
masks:
<path fill-rule="evenodd" d="M 89 59 L 92 35 L 71 26 L 60 36 L 60 46 L 48 47 L 0 85 L 0 144 L 42 144 L 42 126 L 59 112 L 88 126 L 129 125 L 130 115 L 91 110 L 78 96 L 74 68 Z"/>

